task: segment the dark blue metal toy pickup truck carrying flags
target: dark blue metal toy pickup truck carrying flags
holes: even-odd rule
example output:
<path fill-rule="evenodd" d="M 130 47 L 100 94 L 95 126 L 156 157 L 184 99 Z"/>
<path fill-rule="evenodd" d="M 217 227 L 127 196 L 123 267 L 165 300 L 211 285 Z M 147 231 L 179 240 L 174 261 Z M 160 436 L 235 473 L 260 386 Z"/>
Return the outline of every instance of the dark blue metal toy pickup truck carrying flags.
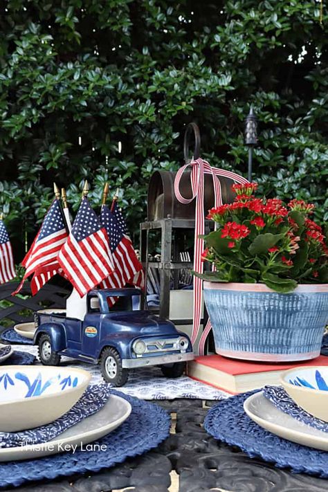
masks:
<path fill-rule="evenodd" d="M 113 305 L 110 298 L 116 298 Z M 61 356 L 69 356 L 100 363 L 113 386 L 126 383 L 129 369 L 147 365 L 161 365 L 167 377 L 181 376 L 185 361 L 194 358 L 190 339 L 144 306 L 140 289 L 103 289 L 86 296 L 83 320 L 35 313 L 40 361 L 58 365 Z"/>

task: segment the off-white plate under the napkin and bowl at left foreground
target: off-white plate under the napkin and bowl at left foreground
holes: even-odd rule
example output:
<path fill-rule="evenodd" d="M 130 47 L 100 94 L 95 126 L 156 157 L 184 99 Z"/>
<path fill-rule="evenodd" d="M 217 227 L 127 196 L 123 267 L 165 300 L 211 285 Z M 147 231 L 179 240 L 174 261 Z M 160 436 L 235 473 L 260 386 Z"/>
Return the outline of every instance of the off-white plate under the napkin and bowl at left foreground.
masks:
<path fill-rule="evenodd" d="M 86 444 L 97 441 L 120 426 L 130 413 L 130 403 L 112 394 L 99 412 L 83 419 L 51 441 L 15 448 L 0 448 L 0 462 L 34 459 L 64 451 L 73 452 L 75 450 L 73 446 L 78 446 L 77 449 L 81 446 L 85 448 Z"/>

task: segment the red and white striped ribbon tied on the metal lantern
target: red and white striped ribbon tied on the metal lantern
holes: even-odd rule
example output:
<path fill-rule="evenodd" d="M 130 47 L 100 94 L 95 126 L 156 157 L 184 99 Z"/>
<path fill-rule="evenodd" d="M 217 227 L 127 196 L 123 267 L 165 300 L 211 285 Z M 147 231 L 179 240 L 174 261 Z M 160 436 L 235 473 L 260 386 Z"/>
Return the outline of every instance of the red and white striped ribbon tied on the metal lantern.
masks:
<path fill-rule="evenodd" d="M 190 181 L 192 186 L 192 197 L 185 198 L 181 195 L 179 190 L 179 184 L 183 172 L 191 167 Z M 198 273 L 203 273 L 203 262 L 201 261 L 201 253 L 204 249 L 204 241 L 199 237 L 205 233 L 205 214 L 204 214 L 204 179 L 205 174 L 212 175 L 213 188 L 215 193 L 215 203 L 213 206 L 218 207 L 222 205 L 222 193 L 221 193 L 221 183 L 220 176 L 232 179 L 236 183 L 248 183 L 247 179 L 239 176 L 235 172 L 226 171 L 219 169 L 217 167 L 211 167 L 207 161 L 198 158 L 188 164 L 183 165 L 179 171 L 176 173 L 174 180 L 174 193 L 176 199 L 181 203 L 190 203 L 192 200 L 196 199 L 196 209 L 195 209 L 195 224 L 194 224 L 194 271 Z M 197 336 L 199 334 L 200 324 L 201 324 L 201 306 L 202 306 L 202 284 L 203 281 L 194 276 L 194 312 L 193 312 L 193 324 L 192 324 L 192 343 L 195 343 Z M 203 355 L 205 349 L 206 338 L 210 332 L 211 324 L 210 319 L 201 335 L 199 341 L 199 354 Z"/>

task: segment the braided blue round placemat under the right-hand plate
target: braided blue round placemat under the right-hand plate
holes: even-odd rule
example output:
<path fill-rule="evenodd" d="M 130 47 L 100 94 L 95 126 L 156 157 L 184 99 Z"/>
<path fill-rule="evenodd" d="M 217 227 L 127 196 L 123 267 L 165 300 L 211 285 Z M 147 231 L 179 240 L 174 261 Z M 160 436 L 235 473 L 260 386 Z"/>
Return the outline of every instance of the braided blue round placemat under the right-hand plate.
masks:
<path fill-rule="evenodd" d="M 262 429 L 244 412 L 244 401 L 258 390 L 238 394 L 213 406 L 206 415 L 206 431 L 249 457 L 260 457 L 278 468 L 328 478 L 328 453 L 295 444 Z"/>

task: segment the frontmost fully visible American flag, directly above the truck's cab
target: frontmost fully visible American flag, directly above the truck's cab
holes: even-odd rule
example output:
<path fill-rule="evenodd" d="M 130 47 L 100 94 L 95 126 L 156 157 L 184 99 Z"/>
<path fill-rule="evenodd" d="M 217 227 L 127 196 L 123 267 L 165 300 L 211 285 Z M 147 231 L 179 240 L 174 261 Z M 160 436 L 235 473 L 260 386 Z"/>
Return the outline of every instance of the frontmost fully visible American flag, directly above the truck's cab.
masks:
<path fill-rule="evenodd" d="M 105 228 L 89 205 L 82 200 L 69 239 L 60 250 L 58 262 L 81 297 L 113 272 Z"/>

